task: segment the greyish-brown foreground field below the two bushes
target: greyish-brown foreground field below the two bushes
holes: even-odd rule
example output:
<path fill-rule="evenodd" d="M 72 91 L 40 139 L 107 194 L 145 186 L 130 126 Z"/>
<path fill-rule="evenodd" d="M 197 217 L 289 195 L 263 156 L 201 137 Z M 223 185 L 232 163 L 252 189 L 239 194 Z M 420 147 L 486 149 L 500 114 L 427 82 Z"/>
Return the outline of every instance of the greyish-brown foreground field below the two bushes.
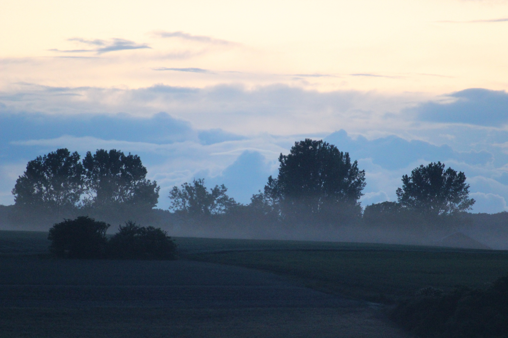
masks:
<path fill-rule="evenodd" d="M 368 304 L 256 270 L 0 259 L 5 337 L 407 337 Z"/>

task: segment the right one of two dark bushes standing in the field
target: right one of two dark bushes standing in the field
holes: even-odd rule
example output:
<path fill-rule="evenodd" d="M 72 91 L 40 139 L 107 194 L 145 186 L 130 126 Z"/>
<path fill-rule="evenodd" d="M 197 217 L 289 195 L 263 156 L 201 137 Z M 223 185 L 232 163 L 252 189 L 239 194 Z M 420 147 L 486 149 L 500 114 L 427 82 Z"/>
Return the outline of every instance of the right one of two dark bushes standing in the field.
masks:
<path fill-rule="evenodd" d="M 125 222 L 108 243 L 108 256 L 119 259 L 176 259 L 176 244 L 160 228 Z"/>

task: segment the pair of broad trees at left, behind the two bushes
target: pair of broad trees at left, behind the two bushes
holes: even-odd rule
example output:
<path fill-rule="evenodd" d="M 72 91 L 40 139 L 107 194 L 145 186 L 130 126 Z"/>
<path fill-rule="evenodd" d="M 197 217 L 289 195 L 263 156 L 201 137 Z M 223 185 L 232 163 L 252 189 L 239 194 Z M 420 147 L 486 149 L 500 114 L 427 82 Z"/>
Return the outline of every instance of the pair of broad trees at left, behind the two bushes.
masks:
<path fill-rule="evenodd" d="M 12 194 L 25 215 L 46 213 L 61 219 L 118 209 L 147 212 L 156 206 L 160 186 L 146 179 L 146 173 L 137 155 L 98 149 L 80 161 L 77 152 L 61 148 L 29 161 Z"/>

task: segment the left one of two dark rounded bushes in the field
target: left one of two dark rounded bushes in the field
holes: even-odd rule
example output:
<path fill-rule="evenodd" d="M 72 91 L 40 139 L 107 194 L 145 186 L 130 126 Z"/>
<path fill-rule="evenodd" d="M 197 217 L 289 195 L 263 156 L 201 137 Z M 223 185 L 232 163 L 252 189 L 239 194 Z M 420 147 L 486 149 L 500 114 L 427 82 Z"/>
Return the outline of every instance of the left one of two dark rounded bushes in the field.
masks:
<path fill-rule="evenodd" d="M 50 230 L 49 250 L 57 257 L 65 258 L 101 258 L 106 251 L 105 222 L 96 221 L 88 216 L 65 219 L 56 223 Z"/>

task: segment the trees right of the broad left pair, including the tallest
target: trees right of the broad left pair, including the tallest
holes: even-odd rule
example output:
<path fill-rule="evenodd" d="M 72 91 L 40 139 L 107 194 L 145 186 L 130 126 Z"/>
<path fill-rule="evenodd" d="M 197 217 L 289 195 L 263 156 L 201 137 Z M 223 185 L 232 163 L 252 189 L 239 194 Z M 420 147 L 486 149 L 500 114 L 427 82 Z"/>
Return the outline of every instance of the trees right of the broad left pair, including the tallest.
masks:
<path fill-rule="evenodd" d="M 437 162 L 402 176 L 397 202 L 372 204 L 365 208 L 368 223 L 436 220 L 471 209 L 466 176 Z M 365 171 L 352 162 L 348 153 L 322 140 L 295 142 L 289 155 L 279 156 L 279 173 L 270 176 L 263 192 L 249 205 L 228 197 L 224 185 L 206 189 L 203 179 L 174 186 L 169 198 L 178 214 L 203 220 L 211 215 L 250 213 L 264 215 L 265 221 L 336 224 L 358 221 L 362 216 L 360 198 L 365 187 Z M 405 219 L 404 219 L 405 218 Z"/>

